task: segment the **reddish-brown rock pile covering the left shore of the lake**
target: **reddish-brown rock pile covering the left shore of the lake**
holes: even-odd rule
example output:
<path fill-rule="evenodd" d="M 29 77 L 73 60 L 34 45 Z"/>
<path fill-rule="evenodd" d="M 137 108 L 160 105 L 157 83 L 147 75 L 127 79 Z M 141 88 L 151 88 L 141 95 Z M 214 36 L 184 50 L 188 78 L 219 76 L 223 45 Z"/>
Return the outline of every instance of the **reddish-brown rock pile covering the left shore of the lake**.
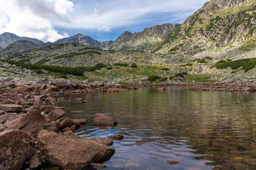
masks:
<path fill-rule="evenodd" d="M 72 131 L 88 120 L 64 118 L 63 109 L 52 105 L 51 100 L 57 100 L 55 97 L 60 94 L 130 89 L 104 83 L 0 83 L 0 169 L 20 169 L 28 163 L 30 169 L 42 168 L 46 163 L 60 168 L 84 168 L 109 160 L 115 152 L 109 147 L 113 140 L 75 135 Z M 117 124 L 112 118 L 101 116 L 112 123 L 109 126 Z"/>

